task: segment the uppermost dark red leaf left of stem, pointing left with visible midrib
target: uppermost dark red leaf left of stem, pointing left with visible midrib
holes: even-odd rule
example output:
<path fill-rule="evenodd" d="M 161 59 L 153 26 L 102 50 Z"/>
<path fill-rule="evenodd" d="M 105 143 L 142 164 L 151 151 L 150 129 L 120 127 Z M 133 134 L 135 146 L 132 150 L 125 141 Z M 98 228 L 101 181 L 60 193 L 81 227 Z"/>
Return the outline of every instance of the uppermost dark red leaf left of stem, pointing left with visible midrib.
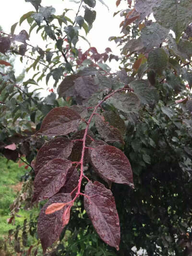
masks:
<path fill-rule="evenodd" d="M 37 133 L 49 136 L 69 134 L 77 131 L 80 121 L 80 115 L 74 110 L 67 107 L 54 108 L 44 118 Z"/>

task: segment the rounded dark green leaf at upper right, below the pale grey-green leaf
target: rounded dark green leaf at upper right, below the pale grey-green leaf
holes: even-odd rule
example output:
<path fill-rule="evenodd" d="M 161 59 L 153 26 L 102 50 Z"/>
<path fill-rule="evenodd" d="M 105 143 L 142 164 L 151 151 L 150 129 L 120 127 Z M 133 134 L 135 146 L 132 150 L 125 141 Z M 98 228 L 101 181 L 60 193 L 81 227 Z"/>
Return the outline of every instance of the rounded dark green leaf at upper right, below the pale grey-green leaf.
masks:
<path fill-rule="evenodd" d="M 149 69 L 162 71 L 167 67 L 168 55 L 162 48 L 153 49 L 149 52 L 147 62 Z"/>

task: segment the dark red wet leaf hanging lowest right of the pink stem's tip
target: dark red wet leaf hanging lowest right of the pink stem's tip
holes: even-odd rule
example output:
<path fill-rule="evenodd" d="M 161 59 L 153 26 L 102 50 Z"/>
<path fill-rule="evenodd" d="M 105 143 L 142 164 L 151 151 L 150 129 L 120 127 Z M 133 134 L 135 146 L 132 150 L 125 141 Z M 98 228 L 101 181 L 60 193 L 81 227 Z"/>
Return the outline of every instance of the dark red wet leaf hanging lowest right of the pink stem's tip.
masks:
<path fill-rule="evenodd" d="M 109 189 L 99 182 L 85 186 L 84 208 L 96 232 L 108 245 L 119 250 L 120 221 L 114 197 Z"/>

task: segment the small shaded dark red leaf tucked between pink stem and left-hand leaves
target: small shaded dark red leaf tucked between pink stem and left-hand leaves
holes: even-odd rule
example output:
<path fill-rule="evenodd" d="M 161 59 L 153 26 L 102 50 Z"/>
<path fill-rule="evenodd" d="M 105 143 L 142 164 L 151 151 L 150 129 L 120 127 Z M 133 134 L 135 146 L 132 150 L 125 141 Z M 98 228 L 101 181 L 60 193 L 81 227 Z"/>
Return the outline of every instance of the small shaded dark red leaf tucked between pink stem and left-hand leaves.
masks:
<path fill-rule="evenodd" d="M 60 189 L 59 193 L 70 193 L 72 190 L 78 185 L 79 182 L 79 173 L 77 169 L 72 166 L 68 172 L 66 177 L 66 182 L 64 186 Z"/>

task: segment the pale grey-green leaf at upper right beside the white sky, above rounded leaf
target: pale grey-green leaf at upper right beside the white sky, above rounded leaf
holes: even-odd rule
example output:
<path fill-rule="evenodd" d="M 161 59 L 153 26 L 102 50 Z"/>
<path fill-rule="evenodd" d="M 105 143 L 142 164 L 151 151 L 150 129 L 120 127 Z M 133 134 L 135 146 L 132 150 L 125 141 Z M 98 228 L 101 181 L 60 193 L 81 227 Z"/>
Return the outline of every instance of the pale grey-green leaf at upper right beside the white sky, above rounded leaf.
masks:
<path fill-rule="evenodd" d="M 162 27 L 158 23 L 152 23 L 150 26 L 145 26 L 141 30 L 141 41 L 144 44 L 146 51 L 159 47 L 166 39 L 169 30 Z"/>

